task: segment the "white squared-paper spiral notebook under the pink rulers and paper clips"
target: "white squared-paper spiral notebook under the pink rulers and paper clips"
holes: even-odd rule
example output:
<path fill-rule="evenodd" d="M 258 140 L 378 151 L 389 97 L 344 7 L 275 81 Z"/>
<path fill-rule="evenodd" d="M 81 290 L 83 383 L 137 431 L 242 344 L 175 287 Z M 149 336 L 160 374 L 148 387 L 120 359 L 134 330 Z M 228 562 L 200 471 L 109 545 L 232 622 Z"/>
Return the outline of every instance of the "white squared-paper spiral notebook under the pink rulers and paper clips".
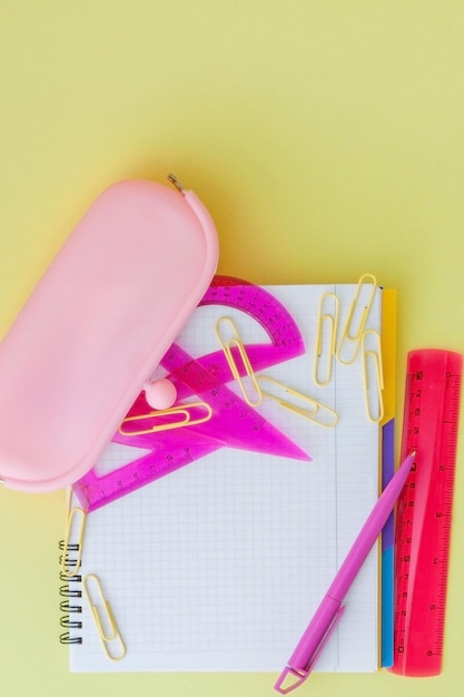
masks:
<path fill-rule="evenodd" d="M 339 344 L 359 286 L 266 292 L 290 313 L 305 350 L 265 375 L 327 405 L 336 425 L 317 424 L 264 399 L 254 409 L 310 461 L 225 445 L 89 513 L 81 549 L 78 543 L 63 550 L 70 563 L 78 549 L 81 553 L 78 573 L 62 576 L 61 587 L 68 596 L 61 640 L 70 644 L 72 671 L 279 671 L 376 501 L 383 438 L 389 446 L 393 439 L 383 428 L 389 415 L 369 414 L 382 406 L 381 347 L 376 353 L 361 346 L 349 364 L 327 350 L 333 330 Z M 362 292 L 368 288 L 363 285 Z M 374 288 L 368 314 L 365 300 L 357 298 L 363 335 L 385 340 L 386 293 Z M 194 313 L 176 343 L 194 356 L 216 352 L 214 326 L 224 315 L 234 320 L 245 346 L 269 341 L 249 313 L 208 305 Z M 322 371 L 317 382 L 327 384 L 315 382 L 315 361 Z M 164 375 L 162 369 L 158 373 Z M 243 396 L 236 380 L 229 387 Z M 110 471 L 134 458 L 132 448 L 111 442 L 97 469 Z M 378 546 L 364 565 L 317 670 L 379 667 L 381 554 Z M 87 575 L 93 590 L 95 577 L 100 580 L 110 602 L 112 615 L 102 601 L 95 605 L 103 632 L 108 618 L 117 621 L 113 646 L 102 642 L 82 592 Z M 111 660 L 103 649 L 119 658 L 122 641 L 124 658 Z"/>

